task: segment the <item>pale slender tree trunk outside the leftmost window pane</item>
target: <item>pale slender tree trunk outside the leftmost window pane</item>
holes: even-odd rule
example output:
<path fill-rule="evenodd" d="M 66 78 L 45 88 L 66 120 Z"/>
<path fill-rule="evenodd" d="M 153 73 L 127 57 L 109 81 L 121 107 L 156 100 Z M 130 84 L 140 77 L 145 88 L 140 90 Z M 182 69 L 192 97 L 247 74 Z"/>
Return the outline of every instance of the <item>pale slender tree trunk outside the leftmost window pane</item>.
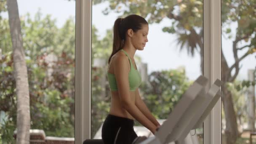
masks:
<path fill-rule="evenodd" d="M 7 0 L 7 11 L 13 45 L 13 64 L 17 94 L 17 144 L 29 144 L 30 109 L 27 66 L 22 46 L 17 0 Z"/>

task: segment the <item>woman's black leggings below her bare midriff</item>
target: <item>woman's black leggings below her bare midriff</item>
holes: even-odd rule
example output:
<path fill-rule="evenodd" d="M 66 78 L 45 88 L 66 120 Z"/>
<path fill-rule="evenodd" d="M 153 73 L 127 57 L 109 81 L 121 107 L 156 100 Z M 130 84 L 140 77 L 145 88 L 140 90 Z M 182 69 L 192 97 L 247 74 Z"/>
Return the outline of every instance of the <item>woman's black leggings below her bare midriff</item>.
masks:
<path fill-rule="evenodd" d="M 104 144 L 132 144 L 133 140 L 138 137 L 133 125 L 134 120 L 107 115 L 101 131 Z"/>

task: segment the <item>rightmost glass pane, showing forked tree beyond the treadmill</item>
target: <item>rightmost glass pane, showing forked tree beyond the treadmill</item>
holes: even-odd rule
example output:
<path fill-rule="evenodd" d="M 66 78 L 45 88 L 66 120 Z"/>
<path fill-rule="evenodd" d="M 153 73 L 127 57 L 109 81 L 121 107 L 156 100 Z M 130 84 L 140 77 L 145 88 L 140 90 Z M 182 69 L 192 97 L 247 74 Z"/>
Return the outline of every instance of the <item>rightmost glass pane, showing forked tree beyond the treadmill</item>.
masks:
<path fill-rule="evenodd" d="M 254 0 L 221 0 L 222 144 L 249 143 L 256 131 L 255 7 Z"/>

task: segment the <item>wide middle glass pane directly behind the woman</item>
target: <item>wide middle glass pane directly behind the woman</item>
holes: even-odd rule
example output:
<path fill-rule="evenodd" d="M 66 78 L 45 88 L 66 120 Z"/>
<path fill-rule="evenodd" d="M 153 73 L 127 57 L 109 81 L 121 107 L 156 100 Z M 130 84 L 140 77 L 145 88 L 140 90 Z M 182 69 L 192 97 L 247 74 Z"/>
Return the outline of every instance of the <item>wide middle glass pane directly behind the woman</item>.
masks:
<path fill-rule="evenodd" d="M 114 22 L 133 13 L 149 23 L 149 42 L 134 56 L 142 77 L 139 93 L 160 123 L 189 85 L 202 75 L 203 0 L 127 0 L 125 3 L 93 0 L 91 137 L 94 139 L 101 139 L 101 125 L 111 105 L 107 68 Z M 134 130 L 138 136 L 152 136 L 139 122 Z M 199 144 L 203 144 L 203 128 L 198 128 L 196 133 Z"/>

